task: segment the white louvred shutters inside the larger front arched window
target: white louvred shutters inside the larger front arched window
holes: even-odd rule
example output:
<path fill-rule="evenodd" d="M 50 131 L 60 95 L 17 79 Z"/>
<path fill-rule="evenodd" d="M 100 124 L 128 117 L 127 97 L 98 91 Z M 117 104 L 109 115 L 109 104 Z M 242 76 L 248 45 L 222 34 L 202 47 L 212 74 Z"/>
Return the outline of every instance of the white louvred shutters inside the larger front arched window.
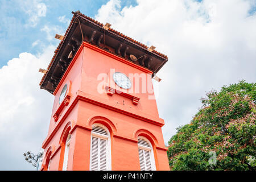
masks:
<path fill-rule="evenodd" d="M 106 135 L 108 133 L 105 129 L 100 126 L 94 126 L 92 129 L 93 133 Z M 92 171 L 106 171 L 107 170 L 107 143 L 108 139 L 92 136 L 92 148 L 91 148 L 91 157 L 90 169 Z"/>

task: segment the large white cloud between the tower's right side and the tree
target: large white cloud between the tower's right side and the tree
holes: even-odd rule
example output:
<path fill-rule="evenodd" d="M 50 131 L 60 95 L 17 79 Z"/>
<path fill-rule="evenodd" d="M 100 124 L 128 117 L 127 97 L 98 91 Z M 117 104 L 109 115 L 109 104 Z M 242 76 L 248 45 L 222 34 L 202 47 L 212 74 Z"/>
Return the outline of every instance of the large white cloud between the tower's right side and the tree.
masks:
<path fill-rule="evenodd" d="M 95 18 L 169 57 L 158 73 L 157 100 L 167 143 L 177 126 L 191 121 L 205 92 L 255 82 L 256 14 L 249 14 L 253 1 L 243 0 L 137 3 L 121 9 L 120 1 L 110 0 Z"/>

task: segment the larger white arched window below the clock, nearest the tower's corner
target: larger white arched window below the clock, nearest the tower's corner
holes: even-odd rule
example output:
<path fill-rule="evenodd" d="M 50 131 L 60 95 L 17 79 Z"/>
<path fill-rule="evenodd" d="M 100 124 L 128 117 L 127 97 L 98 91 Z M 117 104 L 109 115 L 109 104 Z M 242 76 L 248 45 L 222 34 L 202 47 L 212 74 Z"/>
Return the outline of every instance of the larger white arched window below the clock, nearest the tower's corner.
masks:
<path fill-rule="evenodd" d="M 90 170 L 111 170 L 110 134 L 105 126 L 93 126 L 90 146 Z"/>

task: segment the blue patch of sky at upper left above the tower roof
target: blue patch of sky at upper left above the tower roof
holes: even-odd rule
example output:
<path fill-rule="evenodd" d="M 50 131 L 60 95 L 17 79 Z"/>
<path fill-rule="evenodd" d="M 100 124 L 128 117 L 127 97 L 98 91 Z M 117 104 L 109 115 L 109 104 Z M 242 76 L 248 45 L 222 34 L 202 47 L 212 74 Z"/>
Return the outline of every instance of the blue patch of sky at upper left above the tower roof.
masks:
<path fill-rule="evenodd" d="M 31 5 L 31 2 L 28 3 Z M 68 23 L 66 22 L 72 18 L 72 11 L 80 10 L 82 13 L 94 17 L 101 5 L 108 1 L 56 0 L 38 2 L 46 5 L 46 15 L 40 16 L 35 23 L 31 23 L 29 21 L 31 14 L 27 13 L 30 5 L 20 0 L 0 1 L 0 16 L 2 18 L 0 22 L 0 68 L 6 65 L 7 61 L 13 57 L 18 57 L 20 52 L 36 54 L 42 51 L 42 47 L 48 44 L 58 44 L 59 41 L 56 39 L 46 39 L 47 32 L 42 30 L 44 26 L 57 26 L 60 31 L 59 33 L 61 33 L 68 27 Z M 135 0 L 121 1 L 121 9 L 124 6 L 134 6 L 136 4 L 137 2 Z M 31 8 L 35 9 L 35 7 Z M 36 12 L 33 14 L 36 16 Z M 66 22 L 60 22 L 60 16 L 65 16 L 64 19 Z M 32 46 L 32 43 L 36 41 L 38 41 L 40 45 L 36 44 L 36 46 Z"/>

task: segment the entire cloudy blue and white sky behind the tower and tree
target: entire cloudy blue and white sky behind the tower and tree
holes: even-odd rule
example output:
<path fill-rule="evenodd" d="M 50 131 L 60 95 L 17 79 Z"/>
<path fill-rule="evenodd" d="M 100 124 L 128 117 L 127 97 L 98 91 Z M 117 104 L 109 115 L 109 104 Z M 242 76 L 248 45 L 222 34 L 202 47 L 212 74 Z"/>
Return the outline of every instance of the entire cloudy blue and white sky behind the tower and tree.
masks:
<path fill-rule="evenodd" d="M 39 152 L 53 104 L 38 69 L 77 10 L 168 56 L 156 86 L 166 144 L 205 92 L 256 80 L 256 0 L 1 0 L 0 170 L 35 170 L 23 153 Z"/>

